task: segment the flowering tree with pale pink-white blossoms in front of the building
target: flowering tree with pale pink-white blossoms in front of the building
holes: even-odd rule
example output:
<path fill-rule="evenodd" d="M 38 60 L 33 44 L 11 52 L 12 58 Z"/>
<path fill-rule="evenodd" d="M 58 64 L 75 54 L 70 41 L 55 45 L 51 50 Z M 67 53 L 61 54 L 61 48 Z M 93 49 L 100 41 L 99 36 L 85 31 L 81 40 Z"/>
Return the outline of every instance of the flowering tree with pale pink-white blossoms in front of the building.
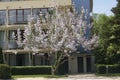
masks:
<path fill-rule="evenodd" d="M 44 49 L 57 56 L 52 64 L 52 74 L 55 74 L 59 65 L 66 61 L 63 60 L 65 57 L 71 56 L 70 53 L 76 51 L 79 46 L 85 50 L 93 49 L 98 37 L 86 36 L 86 29 L 90 27 L 86 22 L 84 9 L 77 14 L 74 9 L 56 6 L 52 15 L 50 12 L 43 16 L 40 11 L 36 18 L 30 16 L 25 27 L 24 40 L 21 39 L 20 30 L 17 31 L 17 43 L 35 53 L 39 52 L 39 49 Z"/>

